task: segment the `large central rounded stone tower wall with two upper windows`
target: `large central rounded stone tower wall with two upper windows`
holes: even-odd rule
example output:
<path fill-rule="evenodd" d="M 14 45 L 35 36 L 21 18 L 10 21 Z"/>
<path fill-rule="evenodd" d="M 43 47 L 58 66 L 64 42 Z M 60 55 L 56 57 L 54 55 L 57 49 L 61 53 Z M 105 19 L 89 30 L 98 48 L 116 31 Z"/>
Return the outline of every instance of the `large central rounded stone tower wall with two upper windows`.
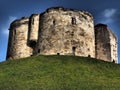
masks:
<path fill-rule="evenodd" d="M 94 22 L 88 12 L 51 8 L 40 21 L 37 53 L 95 57 Z"/>

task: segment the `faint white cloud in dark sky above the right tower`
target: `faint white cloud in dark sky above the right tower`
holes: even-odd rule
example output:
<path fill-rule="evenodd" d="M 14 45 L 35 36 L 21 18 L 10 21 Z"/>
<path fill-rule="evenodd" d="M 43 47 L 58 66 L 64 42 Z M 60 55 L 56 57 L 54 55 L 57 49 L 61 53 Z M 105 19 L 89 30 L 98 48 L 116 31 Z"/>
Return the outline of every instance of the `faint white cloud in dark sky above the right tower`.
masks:
<path fill-rule="evenodd" d="M 101 22 L 106 23 L 106 24 L 113 23 L 114 20 L 115 20 L 116 13 L 117 13 L 116 9 L 113 9 L 113 8 L 105 9 L 102 12 L 102 20 L 101 20 Z"/>

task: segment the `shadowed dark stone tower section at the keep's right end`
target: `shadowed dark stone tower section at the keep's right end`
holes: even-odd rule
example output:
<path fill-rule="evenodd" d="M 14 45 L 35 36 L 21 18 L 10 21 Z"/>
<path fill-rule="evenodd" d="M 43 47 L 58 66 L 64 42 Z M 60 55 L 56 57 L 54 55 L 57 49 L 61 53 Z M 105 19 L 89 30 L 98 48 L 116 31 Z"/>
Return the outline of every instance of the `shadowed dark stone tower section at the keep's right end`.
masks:
<path fill-rule="evenodd" d="M 107 25 L 95 26 L 96 58 L 109 62 L 118 62 L 117 38 Z"/>

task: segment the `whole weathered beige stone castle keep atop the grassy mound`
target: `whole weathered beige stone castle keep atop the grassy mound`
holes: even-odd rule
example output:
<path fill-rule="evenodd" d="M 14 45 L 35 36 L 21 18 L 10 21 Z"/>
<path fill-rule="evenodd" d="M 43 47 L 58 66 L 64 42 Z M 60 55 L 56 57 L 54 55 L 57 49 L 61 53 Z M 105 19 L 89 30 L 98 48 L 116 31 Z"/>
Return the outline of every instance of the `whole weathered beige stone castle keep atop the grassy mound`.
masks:
<path fill-rule="evenodd" d="M 37 54 L 76 55 L 117 63 L 117 38 L 101 26 L 103 24 L 97 25 L 94 30 L 93 16 L 88 12 L 49 8 L 44 13 L 11 23 L 7 59 Z M 103 38 L 110 45 L 103 42 Z"/>

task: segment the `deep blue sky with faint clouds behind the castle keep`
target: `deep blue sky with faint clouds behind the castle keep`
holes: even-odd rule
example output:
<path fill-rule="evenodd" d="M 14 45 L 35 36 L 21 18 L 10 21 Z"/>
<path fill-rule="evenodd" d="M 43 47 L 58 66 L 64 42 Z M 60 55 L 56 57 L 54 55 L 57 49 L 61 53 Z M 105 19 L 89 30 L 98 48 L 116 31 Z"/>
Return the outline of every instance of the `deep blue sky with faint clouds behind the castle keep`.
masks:
<path fill-rule="evenodd" d="M 90 12 L 95 24 L 107 24 L 120 40 L 120 0 L 0 0 L 0 62 L 6 57 L 10 23 L 55 6 Z"/>

